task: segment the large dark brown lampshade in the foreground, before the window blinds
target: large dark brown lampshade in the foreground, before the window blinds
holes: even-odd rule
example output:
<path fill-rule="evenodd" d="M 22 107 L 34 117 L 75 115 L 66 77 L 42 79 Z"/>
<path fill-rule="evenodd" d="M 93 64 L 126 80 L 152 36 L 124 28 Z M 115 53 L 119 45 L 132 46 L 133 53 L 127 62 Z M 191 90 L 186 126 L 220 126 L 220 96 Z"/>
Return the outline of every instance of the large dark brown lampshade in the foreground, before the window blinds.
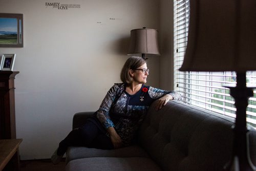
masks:
<path fill-rule="evenodd" d="M 256 1 L 193 0 L 180 71 L 256 70 Z"/>

